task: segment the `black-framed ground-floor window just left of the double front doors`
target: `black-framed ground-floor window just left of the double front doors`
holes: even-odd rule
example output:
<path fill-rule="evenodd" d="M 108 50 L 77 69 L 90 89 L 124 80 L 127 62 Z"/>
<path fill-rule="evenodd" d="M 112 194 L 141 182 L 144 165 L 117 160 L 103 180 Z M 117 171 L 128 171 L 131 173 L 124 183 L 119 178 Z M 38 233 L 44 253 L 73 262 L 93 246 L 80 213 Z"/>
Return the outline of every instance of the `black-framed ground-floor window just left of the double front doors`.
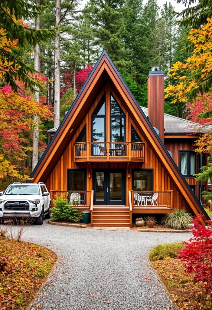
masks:
<path fill-rule="evenodd" d="M 67 190 L 76 192 L 86 190 L 86 169 L 67 170 Z"/>

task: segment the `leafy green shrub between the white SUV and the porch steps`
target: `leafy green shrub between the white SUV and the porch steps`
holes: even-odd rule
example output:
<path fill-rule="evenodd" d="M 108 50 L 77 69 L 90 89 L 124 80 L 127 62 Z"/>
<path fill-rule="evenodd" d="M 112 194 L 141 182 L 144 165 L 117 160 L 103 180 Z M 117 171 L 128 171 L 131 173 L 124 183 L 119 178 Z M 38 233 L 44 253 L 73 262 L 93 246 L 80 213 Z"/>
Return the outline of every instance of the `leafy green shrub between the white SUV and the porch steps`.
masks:
<path fill-rule="evenodd" d="M 55 196 L 55 199 L 53 200 L 53 206 L 52 209 L 52 219 L 54 221 L 69 221 L 69 222 L 79 222 L 82 218 L 82 215 L 78 210 L 73 209 L 72 205 L 69 203 L 67 199 L 64 198 L 63 194 L 61 196 L 57 197 Z"/>

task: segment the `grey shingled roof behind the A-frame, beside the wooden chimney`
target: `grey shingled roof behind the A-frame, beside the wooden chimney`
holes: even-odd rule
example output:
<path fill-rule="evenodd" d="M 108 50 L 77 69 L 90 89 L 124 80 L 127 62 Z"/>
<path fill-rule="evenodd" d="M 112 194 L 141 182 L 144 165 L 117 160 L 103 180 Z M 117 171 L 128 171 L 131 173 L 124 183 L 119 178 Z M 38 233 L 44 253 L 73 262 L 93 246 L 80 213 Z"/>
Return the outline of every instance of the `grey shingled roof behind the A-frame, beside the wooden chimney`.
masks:
<path fill-rule="evenodd" d="M 146 117 L 148 116 L 148 108 L 141 107 Z M 200 128 L 200 130 L 198 130 Z M 55 133 L 58 127 L 54 127 L 49 129 L 47 133 Z M 164 113 L 164 129 L 165 135 L 186 135 L 191 133 L 204 133 L 206 132 L 201 127 L 198 126 L 197 123 L 188 121 L 187 119 L 183 119 L 180 117 L 176 117 L 173 115 L 169 115 Z"/>

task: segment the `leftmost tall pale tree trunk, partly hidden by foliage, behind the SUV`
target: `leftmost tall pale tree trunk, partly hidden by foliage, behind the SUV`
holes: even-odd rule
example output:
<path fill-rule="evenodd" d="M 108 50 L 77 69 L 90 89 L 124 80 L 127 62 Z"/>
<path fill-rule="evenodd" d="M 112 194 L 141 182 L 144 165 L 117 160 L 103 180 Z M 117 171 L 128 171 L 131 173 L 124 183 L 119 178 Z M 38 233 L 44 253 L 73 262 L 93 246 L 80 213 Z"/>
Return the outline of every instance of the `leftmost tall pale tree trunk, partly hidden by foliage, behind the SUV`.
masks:
<path fill-rule="evenodd" d="M 40 0 L 36 1 L 36 5 L 40 5 Z M 40 29 L 40 16 L 37 17 L 35 21 L 35 29 Z M 35 46 L 35 60 L 34 60 L 34 69 L 37 71 L 40 71 L 40 47 L 38 44 Z M 37 86 L 35 87 L 36 91 L 34 94 L 34 100 L 39 102 L 39 92 Z M 34 116 L 34 122 L 35 127 L 33 131 L 33 150 L 32 150 L 32 170 L 37 165 L 38 159 L 39 159 L 39 153 L 38 153 L 38 145 L 39 145 L 39 132 L 38 132 L 38 124 L 39 124 L 39 118 L 37 115 Z"/>

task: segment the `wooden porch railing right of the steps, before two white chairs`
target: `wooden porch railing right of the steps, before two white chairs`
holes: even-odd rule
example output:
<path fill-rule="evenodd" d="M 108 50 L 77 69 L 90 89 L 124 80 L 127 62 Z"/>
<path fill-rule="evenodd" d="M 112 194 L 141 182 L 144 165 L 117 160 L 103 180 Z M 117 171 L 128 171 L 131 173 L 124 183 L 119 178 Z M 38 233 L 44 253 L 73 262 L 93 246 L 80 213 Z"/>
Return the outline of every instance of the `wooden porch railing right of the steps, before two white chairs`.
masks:
<path fill-rule="evenodd" d="M 132 190 L 131 201 L 132 207 L 163 207 L 163 208 L 173 208 L 173 190 L 165 191 L 136 191 Z"/>

